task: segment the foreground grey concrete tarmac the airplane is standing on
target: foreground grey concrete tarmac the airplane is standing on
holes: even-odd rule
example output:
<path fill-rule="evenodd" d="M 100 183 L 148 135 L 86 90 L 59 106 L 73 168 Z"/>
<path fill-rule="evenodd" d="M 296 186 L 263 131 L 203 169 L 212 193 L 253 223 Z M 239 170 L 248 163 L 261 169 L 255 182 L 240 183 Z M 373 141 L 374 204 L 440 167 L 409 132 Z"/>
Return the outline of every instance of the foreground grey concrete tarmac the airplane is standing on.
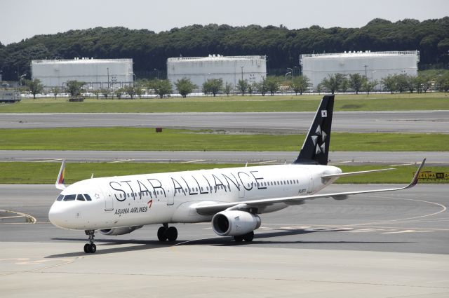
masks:
<path fill-rule="evenodd" d="M 386 186 L 325 190 L 377 187 Z M 86 255 L 83 231 L 48 223 L 58 190 L 4 184 L 0 209 L 22 216 L 0 212 L 0 291 L 5 297 L 448 297 L 447 191 L 444 184 L 418 184 L 311 201 L 261 215 L 253 243 L 217 236 L 208 223 L 175 225 L 175 245 L 156 240 L 157 225 L 98 234 L 97 252 Z"/>

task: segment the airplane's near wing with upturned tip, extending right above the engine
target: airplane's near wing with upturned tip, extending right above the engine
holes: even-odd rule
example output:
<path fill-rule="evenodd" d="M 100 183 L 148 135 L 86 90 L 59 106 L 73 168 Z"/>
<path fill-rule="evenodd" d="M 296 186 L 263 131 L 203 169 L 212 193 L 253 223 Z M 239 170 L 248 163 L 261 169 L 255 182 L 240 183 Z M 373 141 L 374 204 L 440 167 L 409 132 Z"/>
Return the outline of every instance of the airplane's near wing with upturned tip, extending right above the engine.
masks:
<path fill-rule="evenodd" d="M 332 193 L 332 194 L 312 194 L 309 196 L 288 196 L 283 198 L 264 198 L 260 200 L 250 200 L 250 201 L 240 201 L 240 202 L 232 202 L 232 203 L 217 203 L 217 204 L 211 204 L 210 202 L 202 205 L 199 203 L 195 206 L 196 211 L 200 215 L 214 215 L 217 212 L 232 209 L 232 210 L 248 210 L 249 208 L 258 208 L 258 207 L 264 207 L 266 205 L 272 205 L 274 203 L 290 203 L 292 205 L 294 204 L 300 204 L 303 203 L 304 200 L 313 200 L 314 198 L 335 198 L 335 199 L 342 199 L 346 198 L 350 195 L 355 194 L 371 194 L 376 192 L 383 192 L 383 191 L 398 191 L 401 189 L 409 189 L 411 187 L 414 187 L 418 182 L 418 176 L 420 175 L 420 171 L 422 167 L 424 166 L 424 163 L 426 161 L 426 158 L 422 161 L 420 164 L 420 167 L 415 173 L 415 176 L 413 176 L 413 180 L 410 182 L 410 184 L 406 185 L 405 187 L 398 187 L 398 188 L 391 188 L 391 189 L 371 189 L 366 191 L 345 191 L 345 192 L 339 192 L 339 193 Z"/>

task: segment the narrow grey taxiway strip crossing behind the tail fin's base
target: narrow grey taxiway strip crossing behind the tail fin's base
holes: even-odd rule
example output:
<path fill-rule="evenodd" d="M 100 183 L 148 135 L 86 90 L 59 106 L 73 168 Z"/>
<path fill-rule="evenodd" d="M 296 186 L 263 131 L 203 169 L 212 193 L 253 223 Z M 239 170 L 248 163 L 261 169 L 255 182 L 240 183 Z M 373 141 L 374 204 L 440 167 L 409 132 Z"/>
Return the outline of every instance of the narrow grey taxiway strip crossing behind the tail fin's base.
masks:
<path fill-rule="evenodd" d="M 89 163 L 290 163 L 298 151 L 73 151 L 0 150 L 0 161 Z M 427 165 L 449 165 L 449 152 L 438 151 L 330 151 L 330 164 L 413 164 L 427 158 Z"/>

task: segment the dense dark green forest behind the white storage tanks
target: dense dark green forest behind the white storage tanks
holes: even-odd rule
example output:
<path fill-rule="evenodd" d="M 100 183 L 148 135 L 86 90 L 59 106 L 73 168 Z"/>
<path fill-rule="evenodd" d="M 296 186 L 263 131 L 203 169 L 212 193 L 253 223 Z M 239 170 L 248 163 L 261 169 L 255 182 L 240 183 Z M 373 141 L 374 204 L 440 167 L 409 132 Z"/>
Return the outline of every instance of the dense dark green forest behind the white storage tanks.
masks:
<path fill-rule="evenodd" d="M 38 35 L 19 43 L 0 43 L 0 69 L 6 81 L 29 79 L 30 60 L 74 57 L 133 58 L 134 72 L 165 76 L 168 57 L 208 54 L 267 55 L 269 74 L 283 74 L 299 63 L 305 53 L 339 53 L 344 50 L 420 50 L 420 68 L 447 67 L 449 63 L 449 17 L 398 22 L 375 19 L 361 28 L 304 29 L 250 25 L 192 25 L 155 33 L 123 27 L 70 30 Z"/>

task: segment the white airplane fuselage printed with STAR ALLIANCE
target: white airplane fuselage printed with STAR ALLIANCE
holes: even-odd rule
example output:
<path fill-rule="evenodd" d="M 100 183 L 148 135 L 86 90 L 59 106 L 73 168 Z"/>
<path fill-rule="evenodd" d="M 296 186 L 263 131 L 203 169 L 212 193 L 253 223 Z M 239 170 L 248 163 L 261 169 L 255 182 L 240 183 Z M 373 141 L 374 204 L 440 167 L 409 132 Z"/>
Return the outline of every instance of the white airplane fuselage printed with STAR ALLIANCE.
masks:
<path fill-rule="evenodd" d="M 76 182 L 61 195 L 88 194 L 91 201 L 55 201 L 48 217 L 65 229 L 96 230 L 175 222 L 209 222 L 196 206 L 314 194 L 340 173 L 330 165 L 264 165 L 245 168 L 166 172 L 93 178 Z M 274 203 L 257 210 L 288 207 Z"/>

